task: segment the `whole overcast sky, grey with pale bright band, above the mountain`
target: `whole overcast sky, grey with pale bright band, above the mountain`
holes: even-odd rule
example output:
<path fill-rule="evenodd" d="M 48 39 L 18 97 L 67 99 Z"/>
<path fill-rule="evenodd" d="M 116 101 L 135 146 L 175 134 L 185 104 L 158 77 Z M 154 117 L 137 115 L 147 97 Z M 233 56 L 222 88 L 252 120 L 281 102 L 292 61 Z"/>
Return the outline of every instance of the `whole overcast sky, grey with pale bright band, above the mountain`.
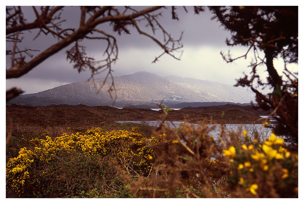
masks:
<path fill-rule="evenodd" d="M 223 61 L 220 51 L 231 49 L 233 57 L 238 57 L 246 52 L 245 48 L 229 48 L 225 44 L 226 37 L 230 34 L 223 29 L 216 20 L 210 20 L 211 12 L 205 7 L 205 12 L 195 15 L 192 7 L 187 7 L 186 13 L 182 7 L 178 8 L 179 21 L 171 19 L 171 9 L 163 9 L 163 16 L 158 20 L 162 26 L 171 35 L 178 39 L 181 32 L 184 31 L 182 43 L 183 55 L 178 61 L 170 56 L 163 56 L 156 63 L 151 63 L 156 56 L 162 53 L 161 48 L 151 39 L 142 36 L 136 30 L 130 28 L 131 35 L 116 35 L 119 49 L 119 60 L 112 65 L 114 76 L 124 74 L 133 74 L 137 71 L 148 71 L 159 76 L 177 75 L 180 77 L 196 78 L 201 80 L 216 81 L 225 84 L 235 84 L 236 79 L 242 76 L 243 72 L 248 73 L 247 67 L 250 60 L 238 60 L 236 63 L 227 64 Z M 78 25 L 79 8 L 65 8 L 62 18 L 67 19 L 68 25 Z M 28 7 L 24 9 L 27 19 L 31 19 L 33 10 Z M 75 15 L 76 14 L 76 15 Z M 102 26 L 107 32 L 111 32 L 108 24 Z M 43 51 L 43 47 L 56 42 L 52 36 L 39 37 L 33 41 L 37 30 L 32 33 L 26 33 L 24 47 Z M 113 34 L 113 33 L 112 33 Z M 161 34 L 161 33 L 158 33 Z M 162 40 L 162 38 L 159 38 Z M 83 45 L 87 47 L 87 53 L 96 59 L 102 59 L 104 43 L 97 40 L 84 41 Z M 71 46 L 69 46 L 71 47 Z M 60 85 L 73 83 L 76 81 L 87 80 L 90 71 L 78 73 L 74 70 L 72 64 L 66 60 L 66 50 L 64 48 L 59 53 L 53 55 L 43 63 L 39 64 L 32 71 L 17 79 L 6 80 L 6 89 L 17 86 L 26 93 L 36 93 Z M 29 60 L 29 59 L 27 59 Z M 9 67 L 8 61 L 6 68 Z M 282 62 L 275 62 L 278 70 L 283 69 Z M 297 65 L 292 65 L 292 71 L 298 69 Z M 265 74 L 264 70 L 261 70 Z M 103 78 L 105 74 L 96 75 L 95 78 Z"/>

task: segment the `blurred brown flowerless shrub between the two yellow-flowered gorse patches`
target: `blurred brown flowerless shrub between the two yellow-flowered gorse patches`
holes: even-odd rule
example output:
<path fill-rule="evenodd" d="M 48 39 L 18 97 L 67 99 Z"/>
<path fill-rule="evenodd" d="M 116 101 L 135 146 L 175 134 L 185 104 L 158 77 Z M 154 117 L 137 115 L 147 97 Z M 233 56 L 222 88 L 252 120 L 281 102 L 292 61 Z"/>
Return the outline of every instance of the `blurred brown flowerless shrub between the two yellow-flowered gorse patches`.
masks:
<path fill-rule="evenodd" d="M 213 128 L 160 126 L 155 135 L 164 137 L 153 145 L 156 174 L 131 183 L 130 191 L 144 197 L 218 197 L 214 186 L 229 169 L 221 163 L 221 146 L 208 134 Z"/>

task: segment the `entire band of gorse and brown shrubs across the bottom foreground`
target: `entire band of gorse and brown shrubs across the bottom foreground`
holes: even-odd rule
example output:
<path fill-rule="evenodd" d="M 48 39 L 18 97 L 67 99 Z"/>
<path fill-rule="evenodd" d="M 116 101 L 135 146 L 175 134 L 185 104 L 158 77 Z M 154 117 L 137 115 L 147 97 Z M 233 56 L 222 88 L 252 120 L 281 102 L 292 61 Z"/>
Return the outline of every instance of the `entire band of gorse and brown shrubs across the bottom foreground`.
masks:
<path fill-rule="evenodd" d="M 44 139 L 19 141 L 27 146 L 7 161 L 7 192 L 35 198 L 298 197 L 298 154 L 282 138 L 222 126 L 215 140 L 214 128 L 161 124 L 148 135 L 138 127 L 97 127 L 54 139 L 45 131 Z"/>

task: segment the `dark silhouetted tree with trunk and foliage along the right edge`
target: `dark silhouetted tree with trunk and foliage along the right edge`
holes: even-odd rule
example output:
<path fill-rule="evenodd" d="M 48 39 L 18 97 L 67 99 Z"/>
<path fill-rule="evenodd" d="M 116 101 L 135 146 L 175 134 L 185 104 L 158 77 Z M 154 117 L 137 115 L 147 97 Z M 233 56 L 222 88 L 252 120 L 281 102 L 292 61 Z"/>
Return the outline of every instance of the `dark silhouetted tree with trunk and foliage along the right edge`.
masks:
<path fill-rule="evenodd" d="M 240 57 L 232 58 L 221 53 L 227 62 L 246 58 L 252 51 L 254 58 L 248 67 L 250 75 L 237 80 L 236 86 L 247 86 L 256 94 L 256 100 L 264 109 L 274 109 L 279 122 L 276 134 L 285 134 L 298 140 L 298 73 L 288 70 L 287 64 L 298 63 L 298 7 L 297 6 L 211 6 L 209 9 L 231 38 L 228 46 L 248 47 Z M 282 58 L 283 75 L 278 74 L 273 60 Z M 266 66 L 267 81 L 263 81 L 258 69 Z M 262 94 L 258 88 L 271 88 L 272 93 Z"/>

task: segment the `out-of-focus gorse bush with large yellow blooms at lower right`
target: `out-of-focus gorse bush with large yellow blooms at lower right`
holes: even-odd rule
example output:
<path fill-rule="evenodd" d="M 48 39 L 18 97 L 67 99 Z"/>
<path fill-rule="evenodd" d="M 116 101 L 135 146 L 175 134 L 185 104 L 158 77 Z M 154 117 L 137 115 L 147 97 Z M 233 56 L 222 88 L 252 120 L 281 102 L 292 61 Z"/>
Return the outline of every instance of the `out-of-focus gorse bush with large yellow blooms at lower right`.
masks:
<path fill-rule="evenodd" d="M 262 144 L 223 150 L 233 167 L 228 183 L 239 197 L 298 196 L 298 154 L 291 153 L 283 144 L 284 140 L 272 133 Z"/>

